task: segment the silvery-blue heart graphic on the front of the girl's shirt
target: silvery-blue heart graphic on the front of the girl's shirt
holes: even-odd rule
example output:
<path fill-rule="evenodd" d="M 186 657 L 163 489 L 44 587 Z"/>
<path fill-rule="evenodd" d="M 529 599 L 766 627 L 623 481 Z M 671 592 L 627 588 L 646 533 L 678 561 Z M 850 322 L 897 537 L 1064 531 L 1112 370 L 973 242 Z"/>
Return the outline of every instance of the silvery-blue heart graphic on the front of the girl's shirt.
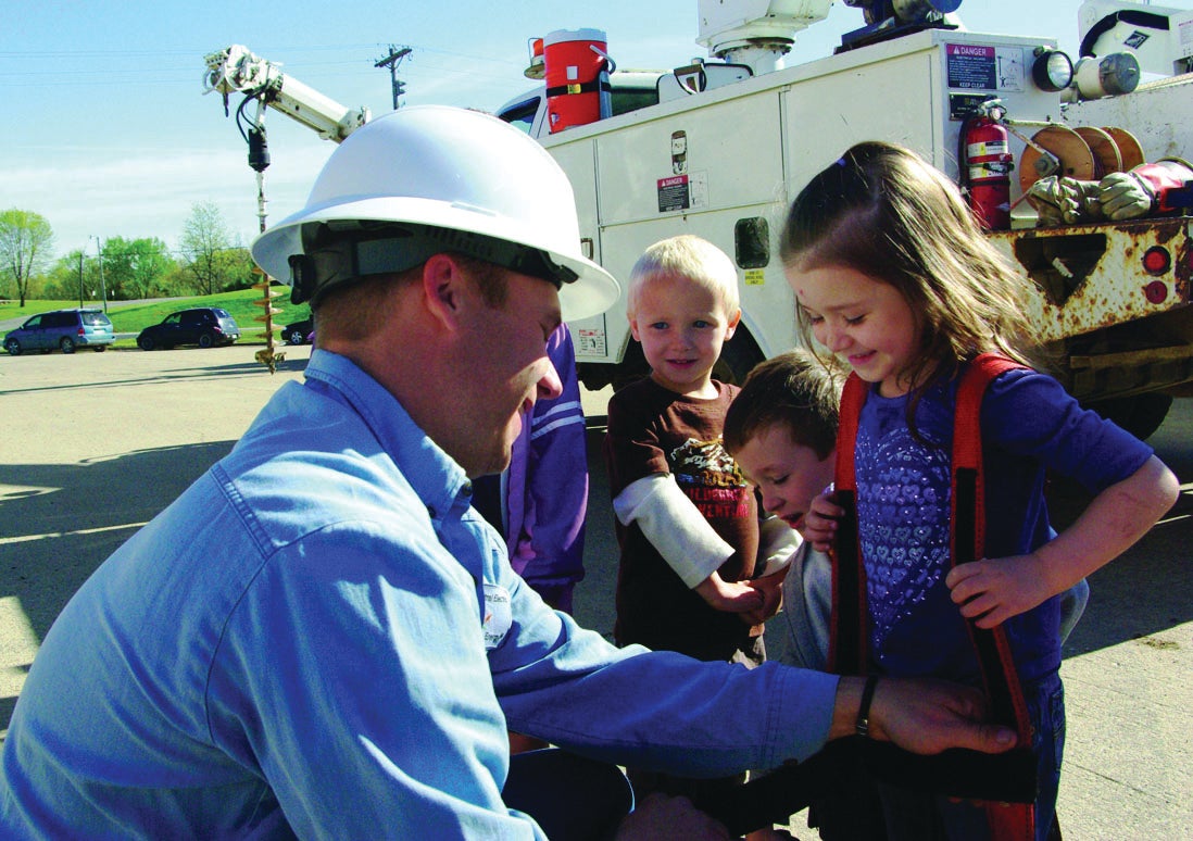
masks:
<path fill-rule="evenodd" d="M 944 586 L 948 570 L 951 494 L 947 450 L 905 427 L 857 443 L 858 534 L 866 567 L 870 644 L 884 650 L 891 630 Z"/>

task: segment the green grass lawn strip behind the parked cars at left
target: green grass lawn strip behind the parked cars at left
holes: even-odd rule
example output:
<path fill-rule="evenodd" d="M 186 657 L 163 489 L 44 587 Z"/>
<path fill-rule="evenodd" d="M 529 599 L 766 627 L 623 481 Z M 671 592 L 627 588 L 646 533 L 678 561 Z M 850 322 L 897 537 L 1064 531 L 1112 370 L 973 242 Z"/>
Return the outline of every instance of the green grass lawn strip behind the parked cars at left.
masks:
<path fill-rule="evenodd" d="M 310 308 L 307 304 L 298 307 L 291 304 L 289 286 L 274 285 L 270 291 L 276 295 L 271 302 L 273 309 L 282 310 L 273 315 L 273 340 L 278 344 L 280 342 L 282 328 L 310 316 Z M 282 295 L 277 295 L 278 292 Z M 221 292 L 193 298 L 162 298 L 136 304 L 109 301 L 107 317 L 112 320 L 112 328 L 116 333 L 136 334 L 149 324 L 156 324 L 171 313 L 181 309 L 222 307 L 231 314 L 231 317 L 240 326 L 239 345 L 264 345 L 265 322 L 256 321 L 256 317 L 265 313 L 265 308 L 254 303 L 258 301 L 261 301 L 261 290 L 259 289 L 243 289 L 237 292 Z M 21 308 L 17 305 L 16 301 L 2 301 L 0 302 L 0 321 L 29 317 L 52 309 L 73 309 L 78 305 L 78 301 L 26 301 L 25 307 Z M 97 301 L 87 301 L 84 302 L 84 307 L 101 309 L 103 304 Z M 136 338 L 118 339 L 116 347 L 136 347 Z"/>

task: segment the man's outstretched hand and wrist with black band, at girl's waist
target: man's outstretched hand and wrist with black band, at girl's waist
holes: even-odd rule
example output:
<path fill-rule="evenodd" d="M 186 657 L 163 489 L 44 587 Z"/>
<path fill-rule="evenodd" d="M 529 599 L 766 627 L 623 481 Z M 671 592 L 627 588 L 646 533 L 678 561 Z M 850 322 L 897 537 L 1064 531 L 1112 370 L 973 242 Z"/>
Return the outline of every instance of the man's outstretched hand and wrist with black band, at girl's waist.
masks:
<path fill-rule="evenodd" d="M 841 678 L 830 738 L 854 732 L 864 678 Z M 985 724 L 985 701 L 972 687 L 928 678 L 880 678 L 870 705 L 870 736 L 916 754 L 970 748 L 988 754 L 1015 746 L 1015 731 Z"/>

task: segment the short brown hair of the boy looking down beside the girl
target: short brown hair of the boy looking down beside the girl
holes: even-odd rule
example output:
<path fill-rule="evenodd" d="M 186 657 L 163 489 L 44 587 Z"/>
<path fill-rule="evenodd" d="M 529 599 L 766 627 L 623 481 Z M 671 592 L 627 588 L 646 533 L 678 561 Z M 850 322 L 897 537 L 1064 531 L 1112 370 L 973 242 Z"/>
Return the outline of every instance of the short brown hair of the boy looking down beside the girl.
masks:
<path fill-rule="evenodd" d="M 735 453 L 768 427 L 781 425 L 791 440 L 821 459 L 836 447 L 845 371 L 809 351 L 780 353 L 754 366 L 725 414 L 724 446 Z"/>

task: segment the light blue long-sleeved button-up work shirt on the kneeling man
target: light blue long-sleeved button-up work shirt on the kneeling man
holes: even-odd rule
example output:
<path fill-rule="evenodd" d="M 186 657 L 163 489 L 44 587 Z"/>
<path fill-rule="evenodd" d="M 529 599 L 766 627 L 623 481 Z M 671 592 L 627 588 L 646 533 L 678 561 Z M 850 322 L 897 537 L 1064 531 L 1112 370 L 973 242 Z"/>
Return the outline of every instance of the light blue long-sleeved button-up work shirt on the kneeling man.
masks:
<path fill-rule="evenodd" d="M 315 351 L 79 589 L 2 755 L 5 837 L 542 837 L 507 729 L 687 775 L 817 750 L 836 679 L 619 650 L 548 608 L 464 471 Z"/>

